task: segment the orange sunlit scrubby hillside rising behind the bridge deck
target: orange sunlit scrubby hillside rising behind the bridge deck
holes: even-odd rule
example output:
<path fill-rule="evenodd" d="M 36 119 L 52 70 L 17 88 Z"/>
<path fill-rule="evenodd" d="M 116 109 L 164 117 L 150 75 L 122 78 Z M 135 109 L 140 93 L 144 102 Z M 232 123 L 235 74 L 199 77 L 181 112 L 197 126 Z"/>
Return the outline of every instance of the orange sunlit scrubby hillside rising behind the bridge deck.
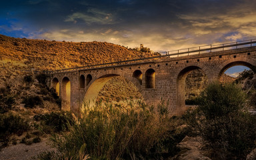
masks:
<path fill-rule="evenodd" d="M 107 42 L 65 42 L 20 39 L 0 35 L 0 67 L 11 63 L 19 69 L 65 69 L 99 63 L 151 57 Z"/>

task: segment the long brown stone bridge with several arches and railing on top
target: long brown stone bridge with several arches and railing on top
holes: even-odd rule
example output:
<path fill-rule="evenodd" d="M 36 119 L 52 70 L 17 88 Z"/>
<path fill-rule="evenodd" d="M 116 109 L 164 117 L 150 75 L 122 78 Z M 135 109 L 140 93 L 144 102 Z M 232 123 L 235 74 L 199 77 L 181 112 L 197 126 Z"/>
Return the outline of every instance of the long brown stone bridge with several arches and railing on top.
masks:
<path fill-rule="evenodd" d="M 94 105 L 103 85 L 115 76 L 125 77 L 139 90 L 146 103 L 169 101 L 173 114 L 185 111 L 185 79 L 201 69 L 208 81 L 218 81 L 229 67 L 244 65 L 255 71 L 256 41 L 194 47 L 168 51 L 165 55 L 51 71 L 49 87 L 62 99 L 62 109 L 79 113 L 83 102 Z"/>

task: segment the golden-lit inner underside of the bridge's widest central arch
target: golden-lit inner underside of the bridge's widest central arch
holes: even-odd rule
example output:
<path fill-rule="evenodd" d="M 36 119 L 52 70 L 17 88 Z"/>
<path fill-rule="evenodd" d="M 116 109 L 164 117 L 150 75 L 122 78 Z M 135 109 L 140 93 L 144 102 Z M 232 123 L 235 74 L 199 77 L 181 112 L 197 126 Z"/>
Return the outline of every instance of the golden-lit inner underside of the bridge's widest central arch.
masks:
<path fill-rule="evenodd" d="M 138 85 L 139 82 L 137 81 L 137 79 L 135 79 L 134 77 L 131 77 L 133 79 L 129 79 L 129 77 L 125 77 L 123 75 L 119 75 L 119 74 L 107 74 L 107 75 L 103 75 L 100 76 L 99 78 L 95 79 L 95 81 L 91 81 L 91 84 L 89 85 L 89 88 L 87 89 L 87 92 L 85 93 L 85 97 L 83 98 L 83 104 L 82 104 L 82 109 L 81 111 L 83 112 L 83 107 L 94 107 L 97 97 L 99 95 L 99 92 L 101 91 L 101 89 L 103 89 L 104 85 L 111 81 L 111 79 L 113 79 L 114 77 L 124 77 L 125 79 L 127 79 L 128 81 L 130 81 L 131 83 L 133 83 L 133 85 L 138 89 L 139 93 L 141 93 L 141 89 L 139 89 Z M 136 80 L 136 81 L 135 81 Z M 141 93 L 143 99 L 144 99 L 144 95 L 143 93 Z"/>

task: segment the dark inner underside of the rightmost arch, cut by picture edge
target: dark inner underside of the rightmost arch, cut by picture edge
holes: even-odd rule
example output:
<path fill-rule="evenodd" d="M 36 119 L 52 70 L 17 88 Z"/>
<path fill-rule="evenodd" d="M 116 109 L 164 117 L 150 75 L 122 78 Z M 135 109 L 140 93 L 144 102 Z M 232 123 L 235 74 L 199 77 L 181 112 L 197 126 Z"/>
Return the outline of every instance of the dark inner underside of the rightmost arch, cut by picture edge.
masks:
<path fill-rule="evenodd" d="M 223 73 L 225 73 L 225 71 L 227 71 L 227 69 L 237 66 L 237 65 L 243 65 L 245 67 L 248 67 L 249 69 L 251 69 L 254 73 L 256 73 L 256 64 L 253 64 L 253 61 L 231 61 L 231 62 L 226 62 L 224 63 L 225 65 L 222 65 L 222 68 L 219 69 L 219 74 L 217 75 L 217 80 L 220 81 L 221 76 L 223 75 Z"/>

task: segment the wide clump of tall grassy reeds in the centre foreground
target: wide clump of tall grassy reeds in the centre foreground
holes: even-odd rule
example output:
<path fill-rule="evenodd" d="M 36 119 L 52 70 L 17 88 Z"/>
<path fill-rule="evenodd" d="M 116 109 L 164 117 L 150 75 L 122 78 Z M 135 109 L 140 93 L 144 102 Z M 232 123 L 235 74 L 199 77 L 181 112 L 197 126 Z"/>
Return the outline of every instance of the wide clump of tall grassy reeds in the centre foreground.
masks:
<path fill-rule="evenodd" d="M 158 108 L 160 113 L 143 103 L 125 109 L 121 105 L 86 107 L 84 117 L 69 133 L 61 138 L 53 137 L 53 145 L 61 153 L 54 156 L 79 159 L 78 155 L 89 154 L 92 159 L 166 159 L 177 151 L 175 140 L 181 141 L 185 135 L 175 132 L 172 122 L 177 119 L 169 118 L 167 106 L 161 103 Z"/>

